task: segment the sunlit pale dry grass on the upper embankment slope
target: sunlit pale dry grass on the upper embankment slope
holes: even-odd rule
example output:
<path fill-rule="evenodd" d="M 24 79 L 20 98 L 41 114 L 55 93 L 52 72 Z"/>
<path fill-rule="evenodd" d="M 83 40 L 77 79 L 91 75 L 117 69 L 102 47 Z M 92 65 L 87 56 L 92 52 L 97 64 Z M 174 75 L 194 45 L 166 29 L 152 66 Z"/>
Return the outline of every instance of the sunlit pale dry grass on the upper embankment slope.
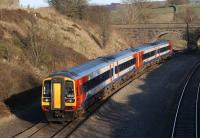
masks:
<path fill-rule="evenodd" d="M 100 41 L 97 26 L 83 21 L 76 21 L 77 23 L 74 23 L 64 16 L 59 16 L 57 12 L 50 11 L 50 9 L 47 9 L 47 14 L 45 9 L 39 10 L 43 17 L 54 18 L 53 28 L 56 33 L 59 34 L 59 41 L 63 42 L 65 47 L 74 49 L 76 52 L 85 55 L 88 59 L 111 54 L 120 49 L 127 48 L 127 44 L 123 40 L 120 40 L 120 36 L 117 36 L 113 32 L 108 46 L 105 49 L 101 49 L 97 43 L 97 41 Z M 95 36 L 96 40 L 91 37 L 91 34 Z M 120 43 L 118 43 L 118 41 L 120 41 Z"/>

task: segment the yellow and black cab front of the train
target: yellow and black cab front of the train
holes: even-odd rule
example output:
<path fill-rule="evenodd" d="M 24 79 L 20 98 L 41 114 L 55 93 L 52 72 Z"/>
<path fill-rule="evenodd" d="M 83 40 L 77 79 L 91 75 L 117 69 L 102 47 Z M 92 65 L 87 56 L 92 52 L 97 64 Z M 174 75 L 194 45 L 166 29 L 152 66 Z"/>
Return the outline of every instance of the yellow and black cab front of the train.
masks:
<path fill-rule="evenodd" d="M 76 108 L 74 81 L 59 76 L 45 79 L 41 106 L 48 121 L 71 121 Z"/>

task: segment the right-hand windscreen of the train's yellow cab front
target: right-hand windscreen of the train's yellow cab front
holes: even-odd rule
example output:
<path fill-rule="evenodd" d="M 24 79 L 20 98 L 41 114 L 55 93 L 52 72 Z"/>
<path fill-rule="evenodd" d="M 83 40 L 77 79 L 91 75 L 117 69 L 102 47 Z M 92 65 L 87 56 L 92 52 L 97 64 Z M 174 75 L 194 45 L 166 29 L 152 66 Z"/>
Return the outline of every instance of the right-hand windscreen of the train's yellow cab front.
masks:
<path fill-rule="evenodd" d="M 67 98 L 74 98 L 74 85 L 72 81 L 65 82 L 65 96 Z"/>

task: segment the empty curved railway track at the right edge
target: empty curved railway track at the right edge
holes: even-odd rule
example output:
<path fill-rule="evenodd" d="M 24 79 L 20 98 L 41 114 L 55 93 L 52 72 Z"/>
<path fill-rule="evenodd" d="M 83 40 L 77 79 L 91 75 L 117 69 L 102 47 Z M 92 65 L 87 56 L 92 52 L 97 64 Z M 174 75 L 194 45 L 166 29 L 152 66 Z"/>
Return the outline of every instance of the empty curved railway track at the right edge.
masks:
<path fill-rule="evenodd" d="M 197 63 L 183 87 L 178 102 L 171 138 L 198 138 L 199 136 L 199 102 L 200 63 Z"/>

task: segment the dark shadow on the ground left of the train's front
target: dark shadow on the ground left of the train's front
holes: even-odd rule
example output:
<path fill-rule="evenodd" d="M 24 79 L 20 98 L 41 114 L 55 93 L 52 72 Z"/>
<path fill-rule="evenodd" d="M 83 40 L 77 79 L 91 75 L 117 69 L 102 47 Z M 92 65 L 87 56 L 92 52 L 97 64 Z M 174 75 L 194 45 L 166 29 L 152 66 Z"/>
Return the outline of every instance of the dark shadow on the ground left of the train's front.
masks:
<path fill-rule="evenodd" d="M 36 123 L 44 119 L 40 107 L 41 86 L 21 92 L 6 99 L 4 103 L 19 119 Z"/>

